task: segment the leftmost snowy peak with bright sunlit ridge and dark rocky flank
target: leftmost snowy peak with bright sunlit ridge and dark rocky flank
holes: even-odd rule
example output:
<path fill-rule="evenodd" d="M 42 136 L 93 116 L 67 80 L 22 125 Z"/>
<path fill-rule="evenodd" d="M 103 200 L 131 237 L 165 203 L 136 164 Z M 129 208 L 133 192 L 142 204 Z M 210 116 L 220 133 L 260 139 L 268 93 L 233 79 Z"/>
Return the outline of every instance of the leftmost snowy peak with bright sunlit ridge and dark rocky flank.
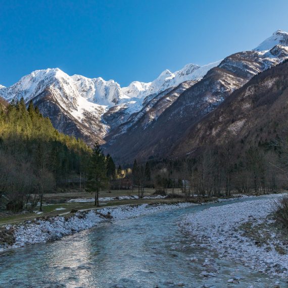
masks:
<path fill-rule="evenodd" d="M 34 71 L 11 87 L 0 89 L 0 96 L 10 102 L 21 97 L 26 103 L 32 100 L 60 132 L 84 138 L 89 145 L 95 140 L 103 143 L 109 129 L 101 122 L 106 106 L 89 102 L 73 78 L 58 68 Z M 107 101 L 101 96 L 100 102 Z"/>

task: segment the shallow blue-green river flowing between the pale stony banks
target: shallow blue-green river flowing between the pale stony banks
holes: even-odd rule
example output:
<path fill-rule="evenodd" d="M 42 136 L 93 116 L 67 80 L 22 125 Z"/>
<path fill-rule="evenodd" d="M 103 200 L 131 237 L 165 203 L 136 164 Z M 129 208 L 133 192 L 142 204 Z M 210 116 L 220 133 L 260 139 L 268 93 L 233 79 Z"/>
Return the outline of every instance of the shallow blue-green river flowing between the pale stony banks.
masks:
<path fill-rule="evenodd" d="M 249 201 L 249 200 L 238 200 Z M 273 287 L 276 278 L 250 271 L 241 264 L 220 260 L 205 247 L 190 247 L 191 239 L 177 223 L 206 204 L 103 223 L 66 236 L 0 255 L 0 287 Z M 197 262 L 187 258 L 196 257 Z M 203 267 L 205 259 L 215 259 Z M 218 268 L 216 277 L 200 273 Z M 241 276 L 229 284 L 231 273 Z M 283 284 L 281 287 L 286 287 Z"/>

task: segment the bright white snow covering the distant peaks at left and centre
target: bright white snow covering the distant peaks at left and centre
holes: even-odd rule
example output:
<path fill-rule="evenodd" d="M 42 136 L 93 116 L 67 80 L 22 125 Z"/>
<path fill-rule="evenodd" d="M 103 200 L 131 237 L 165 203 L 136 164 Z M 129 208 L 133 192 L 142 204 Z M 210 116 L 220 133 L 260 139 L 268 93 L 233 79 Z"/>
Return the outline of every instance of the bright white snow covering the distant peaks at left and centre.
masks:
<path fill-rule="evenodd" d="M 10 87 L 0 85 L 0 96 L 8 101 L 20 100 L 23 97 L 25 102 L 28 102 L 49 89 L 59 105 L 78 121 L 83 122 L 83 118 L 89 113 L 101 123 L 101 116 L 109 108 L 119 106 L 114 112 L 124 109 L 125 113 L 131 115 L 141 110 L 143 99 L 148 95 L 156 95 L 185 80 L 200 79 L 218 64 L 219 62 L 215 62 L 202 67 L 187 64 L 175 73 L 163 71 L 152 82 L 133 81 L 123 88 L 114 80 L 69 76 L 59 68 L 49 68 L 33 71 Z M 104 132 L 107 132 L 109 127 L 105 123 L 102 125 Z"/>

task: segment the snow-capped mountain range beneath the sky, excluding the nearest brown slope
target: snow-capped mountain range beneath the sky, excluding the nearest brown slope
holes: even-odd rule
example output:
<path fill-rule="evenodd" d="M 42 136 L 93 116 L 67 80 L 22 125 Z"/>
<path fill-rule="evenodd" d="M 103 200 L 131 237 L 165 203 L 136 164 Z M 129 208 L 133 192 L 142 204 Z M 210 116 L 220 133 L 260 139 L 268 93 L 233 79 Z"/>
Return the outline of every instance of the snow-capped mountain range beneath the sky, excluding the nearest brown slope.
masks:
<path fill-rule="evenodd" d="M 0 96 L 9 102 L 22 97 L 27 104 L 32 101 L 60 132 L 83 138 L 90 146 L 99 141 L 116 161 L 131 163 L 198 149 L 195 127 L 202 127 L 207 115 L 219 111 L 259 73 L 287 58 L 288 33 L 277 30 L 252 51 L 202 67 L 165 70 L 149 83 L 120 87 L 114 80 L 69 76 L 55 68 L 34 71 L 10 87 L 0 85 Z M 245 125 L 241 123 L 234 125 Z M 201 132 L 209 134 L 213 128 L 208 126 Z"/>

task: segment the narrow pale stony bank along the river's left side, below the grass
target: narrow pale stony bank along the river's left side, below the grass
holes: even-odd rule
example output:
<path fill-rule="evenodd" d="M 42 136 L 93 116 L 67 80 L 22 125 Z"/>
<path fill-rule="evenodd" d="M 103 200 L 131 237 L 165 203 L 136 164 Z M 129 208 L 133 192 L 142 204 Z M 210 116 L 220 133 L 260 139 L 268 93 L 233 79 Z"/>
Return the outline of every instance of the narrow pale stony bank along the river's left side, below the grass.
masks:
<path fill-rule="evenodd" d="M 0 252 L 10 248 L 23 247 L 29 244 L 45 243 L 54 239 L 60 239 L 65 235 L 70 235 L 91 228 L 100 222 L 111 220 L 101 216 L 98 212 L 101 212 L 102 215 L 107 215 L 108 212 L 110 212 L 113 220 L 121 220 L 169 209 L 184 208 L 192 205 L 196 204 L 178 203 L 171 205 L 142 204 L 138 206 L 118 206 L 102 208 L 98 211 L 78 211 L 71 217 L 43 217 L 42 219 L 26 221 L 25 223 L 18 225 L 7 225 L 6 229 L 13 231 L 15 243 L 12 246 L 0 246 Z"/>

